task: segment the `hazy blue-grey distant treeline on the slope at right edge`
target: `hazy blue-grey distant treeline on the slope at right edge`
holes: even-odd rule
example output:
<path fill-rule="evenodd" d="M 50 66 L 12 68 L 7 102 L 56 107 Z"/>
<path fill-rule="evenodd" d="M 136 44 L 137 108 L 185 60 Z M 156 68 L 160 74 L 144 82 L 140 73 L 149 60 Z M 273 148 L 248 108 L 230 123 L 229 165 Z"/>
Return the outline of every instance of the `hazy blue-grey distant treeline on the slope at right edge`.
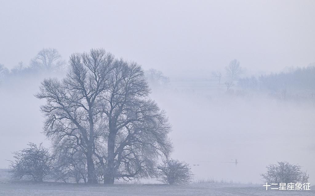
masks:
<path fill-rule="evenodd" d="M 264 90 L 271 93 L 283 90 L 292 93 L 315 92 L 315 66 L 292 67 L 286 72 L 241 78 L 239 86 L 244 89 Z"/>

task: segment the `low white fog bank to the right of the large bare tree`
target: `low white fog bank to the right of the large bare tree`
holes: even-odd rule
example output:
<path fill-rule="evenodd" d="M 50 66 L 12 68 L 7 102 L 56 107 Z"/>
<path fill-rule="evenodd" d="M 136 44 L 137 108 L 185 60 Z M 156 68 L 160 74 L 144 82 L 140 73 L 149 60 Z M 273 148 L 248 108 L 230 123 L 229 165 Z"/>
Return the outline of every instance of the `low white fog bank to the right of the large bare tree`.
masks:
<path fill-rule="evenodd" d="M 155 98 L 173 125 L 174 156 L 199 164 L 192 167 L 196 177 L 259 183 L 265 166 L 281 160 L 303 165 L 313 175 L 314 107 L 221 96 L 163 93 Z M 237 166 L 222 163 L 235 159 Z"/>

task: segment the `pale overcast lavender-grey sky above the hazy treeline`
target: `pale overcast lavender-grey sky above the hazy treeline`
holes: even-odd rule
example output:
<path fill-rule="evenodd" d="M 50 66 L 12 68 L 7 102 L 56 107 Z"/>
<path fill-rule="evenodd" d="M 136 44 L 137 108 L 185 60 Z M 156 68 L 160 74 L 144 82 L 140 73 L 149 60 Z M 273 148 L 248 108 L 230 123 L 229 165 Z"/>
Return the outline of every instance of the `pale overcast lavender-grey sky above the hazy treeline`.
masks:
<path fill-rule="evenodd" d="M 44 47 L 64 59 L 103 47 L 167 75 L 250 73 L 315 62 L 315 1 L 4 1 L 0 63 L 26 65 Z"/>

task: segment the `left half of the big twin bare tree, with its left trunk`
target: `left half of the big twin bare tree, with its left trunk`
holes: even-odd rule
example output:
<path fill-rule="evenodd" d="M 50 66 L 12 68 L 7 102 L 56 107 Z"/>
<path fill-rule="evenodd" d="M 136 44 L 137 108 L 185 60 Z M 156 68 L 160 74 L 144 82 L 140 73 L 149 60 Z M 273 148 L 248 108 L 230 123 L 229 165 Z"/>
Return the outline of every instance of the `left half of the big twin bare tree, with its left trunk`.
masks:
<path fill-rule="evenodd" d="M 81 149 L 87 159 L 88 183 L 97 183 L 95 176 L 95 140 L 104 126 L 102 100 L 108 89 L 109 73 L 114 57 L 103 49 L 73 54 L 71 69 L 62 81 L 45 79 L 39 99 L 47 102 L 41 107 L 45 114 L 44 131 L 56 143 L 69 143 Z"/>

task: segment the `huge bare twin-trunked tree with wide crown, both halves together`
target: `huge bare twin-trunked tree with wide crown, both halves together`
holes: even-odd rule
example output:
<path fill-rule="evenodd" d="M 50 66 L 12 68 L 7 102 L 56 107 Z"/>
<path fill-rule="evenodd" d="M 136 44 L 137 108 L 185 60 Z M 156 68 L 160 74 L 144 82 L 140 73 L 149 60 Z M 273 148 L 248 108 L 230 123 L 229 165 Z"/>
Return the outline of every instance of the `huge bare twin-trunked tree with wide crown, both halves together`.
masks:
<path fill-rule="evenodd" d="M 96 183 L 97 176 L 112 184 L 150 175 L 172 146 L 168 119 L 149 99 L 141 66 L 103 49 L 74 54 L 70 65 L 63 81 L 46 79 L 37 94 L 47 100 L 41 107 L 47 136 L 55 146 L 84 153 L 88 183 Z"/>

